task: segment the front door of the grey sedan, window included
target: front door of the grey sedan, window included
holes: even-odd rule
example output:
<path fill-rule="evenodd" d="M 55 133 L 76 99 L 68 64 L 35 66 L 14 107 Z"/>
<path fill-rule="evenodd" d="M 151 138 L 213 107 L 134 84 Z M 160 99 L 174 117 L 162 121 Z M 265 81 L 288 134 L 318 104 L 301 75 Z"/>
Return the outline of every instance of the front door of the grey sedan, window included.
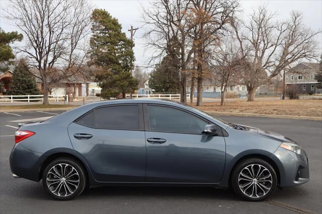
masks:
<path fill-rule="evenodd" d="M 216 183 L 224 169 L 225 141 L 201 134 L 208 121 L 165 105 L 147 104 L 146 181 Z M 217 127 L 217 130 L 221 130 Z"/>

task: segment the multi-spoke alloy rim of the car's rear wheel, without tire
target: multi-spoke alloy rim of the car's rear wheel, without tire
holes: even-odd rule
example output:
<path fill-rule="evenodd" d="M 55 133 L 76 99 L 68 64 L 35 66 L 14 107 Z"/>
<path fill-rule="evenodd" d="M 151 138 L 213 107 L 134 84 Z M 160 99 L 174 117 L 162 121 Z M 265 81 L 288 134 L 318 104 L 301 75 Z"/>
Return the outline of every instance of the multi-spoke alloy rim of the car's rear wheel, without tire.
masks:
<path fill-rule="evenodd" d="M 48 189 L 55 195 L 66 197 L 73 194 L 79 186 L 79 174 L 69 164 L 59 163 L 50 168 L 46 183 Z"/>

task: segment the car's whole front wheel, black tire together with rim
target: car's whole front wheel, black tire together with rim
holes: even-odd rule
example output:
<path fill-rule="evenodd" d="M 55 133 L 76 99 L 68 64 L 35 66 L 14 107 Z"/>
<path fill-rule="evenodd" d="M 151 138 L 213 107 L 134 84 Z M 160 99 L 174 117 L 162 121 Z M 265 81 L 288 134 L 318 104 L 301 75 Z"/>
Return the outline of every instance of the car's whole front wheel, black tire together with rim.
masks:
<path fill-rule="evenodd" d="M 253 174 L 256 174 L 255 176 L 249 176 L 249 175 L 252 175 L 251 174 L 252 172 L 248 172 L 248 170 L 245 169 L 246 167 L 252 167 L 252 165 L 253 165 L 252 171 L 254 171 Z M 262 175 L 263 174 L 262 173 L 260 176 L 257 176 L 259 173 L 261 173 L 261 171 L 258 171 L 257 169 L 263 170 L 264 175 Z M 243 175 L 246 175 L 253 179 L 252 180 L 250 179 L 251 181 L 246 180 L 249 178 L 241 175 L 242 170 L 244 170 Z M 271 176 L 268 178 L 265 178 L 269 176 L 268 172 L 270 173 Z M 246 179 L 245 180 L 240 179 L 240 181 L 238 181 L 239 174 L 240 174 L 240 178 L 246 178 Z M 259 182 L 258 180 L 261 180 L 261 181 Z M 269 180 L 271 182 L 269 181 L 266 182 L 266 180 Z M 240 184 L 240 187 L 239 187 L 239 184 Z M 243 188 L 244 185 L 246 186 Z M 269 190 L 264 188 L 263 185 L 265 187 L 269 187 Z M 265 160 L 259 159 L 259 158 L 245 159 L 234 167 L 232 171 L 232 176 L 231 176 L 231 186 L 237 195 L 239 195 L 240 197 L 243 197 L 246 200 L 262 201 L 274 193 L 277 186 L 277 175 L 274 168 Z M 241 188 L 243 188 L 244 191 L 241 190 Z"/>

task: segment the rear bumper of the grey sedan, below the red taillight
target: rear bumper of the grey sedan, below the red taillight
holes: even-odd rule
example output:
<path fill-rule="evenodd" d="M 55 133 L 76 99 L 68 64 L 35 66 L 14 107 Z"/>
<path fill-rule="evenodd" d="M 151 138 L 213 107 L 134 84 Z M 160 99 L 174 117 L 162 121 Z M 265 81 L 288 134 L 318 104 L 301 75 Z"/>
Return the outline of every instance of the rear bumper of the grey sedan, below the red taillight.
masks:
<path fill-rule="evenodd" d="M 39 181 L 41 163 L 47 156 L 46 154 L 30 151 L 18 143 L 10 154 L 11 171 L 18 177 Z"/>

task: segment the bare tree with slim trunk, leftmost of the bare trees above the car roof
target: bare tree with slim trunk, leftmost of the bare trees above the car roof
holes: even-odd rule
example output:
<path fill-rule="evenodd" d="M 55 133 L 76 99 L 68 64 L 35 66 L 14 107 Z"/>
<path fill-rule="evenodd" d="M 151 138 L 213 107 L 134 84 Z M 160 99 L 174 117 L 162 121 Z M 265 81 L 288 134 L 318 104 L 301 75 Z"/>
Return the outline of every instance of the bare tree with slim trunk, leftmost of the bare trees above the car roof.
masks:
<path fill-rule="evenodd" d="M 181 69 L 181 102 L 187 102 L 187 70 L 194 45 L 189 44 L 187 35 L 192 27 L 189 26 L 188 9 L 190 0 L 162 0 L 153 2 L 149 9 L 143 8 L 143 22 L 148 28 L 144 38 L 147 48 L 154 49 L 155 55 L 151 60 L 160 59 L 166 54 L 171 56 L 174 64 Z"/>

